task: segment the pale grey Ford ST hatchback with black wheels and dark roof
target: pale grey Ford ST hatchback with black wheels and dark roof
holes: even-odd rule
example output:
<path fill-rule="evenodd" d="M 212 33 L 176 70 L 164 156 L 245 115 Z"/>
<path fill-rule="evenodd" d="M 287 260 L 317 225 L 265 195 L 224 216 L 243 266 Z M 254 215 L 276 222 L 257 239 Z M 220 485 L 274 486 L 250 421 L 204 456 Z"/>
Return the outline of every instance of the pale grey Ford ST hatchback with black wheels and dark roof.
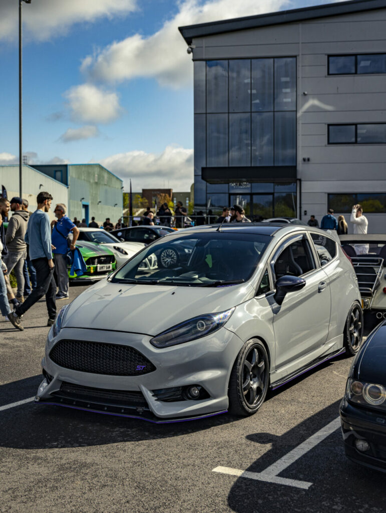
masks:
<path fill-rule="evenodd" d="M 141 263 L 192 248 L 184 265 Z M 165 235 L 60 310 L 36 402 L 172 422 L 252 415 L 363 332 L 357 278 L 333 234 L 268 223 Z"/>

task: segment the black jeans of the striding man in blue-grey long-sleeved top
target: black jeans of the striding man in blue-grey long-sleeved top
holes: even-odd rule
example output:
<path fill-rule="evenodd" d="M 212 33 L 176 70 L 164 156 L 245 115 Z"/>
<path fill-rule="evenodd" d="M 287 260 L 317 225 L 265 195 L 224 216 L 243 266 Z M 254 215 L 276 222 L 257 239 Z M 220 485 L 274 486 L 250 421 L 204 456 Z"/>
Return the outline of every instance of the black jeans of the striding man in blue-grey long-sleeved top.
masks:
<path fill-rule="evenodd" d="M 37 287 L 32 290 L 26 301 L 18 306 L 15 310 L 16 315 L 23 315 L 32 305 L 46 294 L 46 305 L 48 317 L 55 319 L 56 316 L 56 284 L 53 277 L 54 268 L 50 269 L 46 258 L 37 258 L 32 260 L 32 264 L 36 269 Z"/>

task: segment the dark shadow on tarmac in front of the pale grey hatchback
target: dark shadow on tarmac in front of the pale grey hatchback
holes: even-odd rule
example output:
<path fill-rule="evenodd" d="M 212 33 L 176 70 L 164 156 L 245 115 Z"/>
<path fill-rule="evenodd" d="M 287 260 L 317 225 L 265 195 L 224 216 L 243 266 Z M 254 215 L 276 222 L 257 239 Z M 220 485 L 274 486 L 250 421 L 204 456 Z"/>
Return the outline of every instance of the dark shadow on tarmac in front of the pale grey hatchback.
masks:
<path fill-rule="evenodd" d="M 41 374 L 0 386 L 0 406 L 34 396 Z M 227 414 L 173 424 L 153 424 L 29 402 L 0 411 L 0 447 L 68 448 L 157 440 L 204 431 L 237 420 Z"/>

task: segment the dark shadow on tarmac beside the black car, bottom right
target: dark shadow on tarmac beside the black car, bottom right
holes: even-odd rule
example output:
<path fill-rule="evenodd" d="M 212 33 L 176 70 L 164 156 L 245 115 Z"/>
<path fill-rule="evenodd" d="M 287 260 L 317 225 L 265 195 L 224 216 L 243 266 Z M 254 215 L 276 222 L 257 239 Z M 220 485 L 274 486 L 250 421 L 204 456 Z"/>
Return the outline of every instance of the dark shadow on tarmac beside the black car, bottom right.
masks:
<path fill-rule="evenodd" d="M 314 435 L 339 416 L 339 401 L 318 411 L 281 436 L 268 432 L 249 433 L 246 439 L 252 444 L 271 448 L 248 468 L 262 472 L 287 455 L 292 449 Z M 253 452 L 253 446 L 251 452 Z M 220 474 L 219 474 L 220 476 Z M 352 513 L 361 510 L 383 512 L 386 498 L 383 489 L 384 474 L 361 467 L 344 455 L 340 429 L 335 430 L 309 452 L 283 470 L 279 477 L 313 483 L 306 489 L 283 484 L 268 483 L 248 478 L 238 478 L 230 489 L 228 505 L 239 513 L 257 511 L 317 511 Z M 223 477 L 222 479 L 229 479 Z M 233 478 L 235 479 L 235 478 Z"/>

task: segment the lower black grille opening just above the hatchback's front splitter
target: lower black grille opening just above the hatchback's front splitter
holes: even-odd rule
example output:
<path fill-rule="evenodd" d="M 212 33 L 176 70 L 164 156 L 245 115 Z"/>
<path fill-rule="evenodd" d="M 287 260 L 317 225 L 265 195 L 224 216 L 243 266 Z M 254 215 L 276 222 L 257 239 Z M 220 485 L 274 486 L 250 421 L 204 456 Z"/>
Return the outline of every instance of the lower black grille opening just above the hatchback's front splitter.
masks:
<path fill-rule="evenodd" d="M 68 399 L 78 399 L 80 401 L 101 402 L 103 404 L 147 406 L 142 392 L 139 391 L 108 390 L 105 388 L 75 385 L 66 381 L 60 385 L 60 390 L 52 392 L 52 395 Z"/>

